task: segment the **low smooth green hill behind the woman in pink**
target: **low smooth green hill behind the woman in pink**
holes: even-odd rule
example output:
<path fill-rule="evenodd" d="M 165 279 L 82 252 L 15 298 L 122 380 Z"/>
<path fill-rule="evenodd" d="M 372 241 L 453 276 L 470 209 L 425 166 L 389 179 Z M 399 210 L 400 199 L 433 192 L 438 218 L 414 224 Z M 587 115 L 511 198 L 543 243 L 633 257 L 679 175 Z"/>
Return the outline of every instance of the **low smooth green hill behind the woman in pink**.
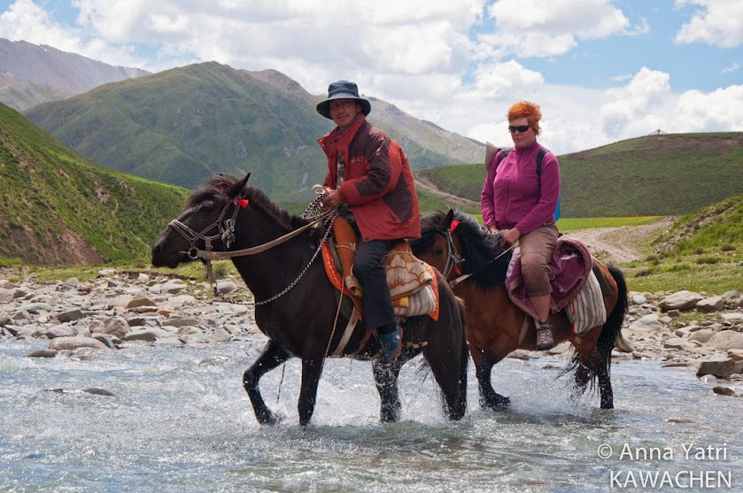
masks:
<path fill-rule="evenodd" d="M 743 191 L 743 133 L 649 135 L 558 156 L 562 217 L 696 212 Z M 439 189 L 479 201 L 484 165 L 420 172 Z"/>

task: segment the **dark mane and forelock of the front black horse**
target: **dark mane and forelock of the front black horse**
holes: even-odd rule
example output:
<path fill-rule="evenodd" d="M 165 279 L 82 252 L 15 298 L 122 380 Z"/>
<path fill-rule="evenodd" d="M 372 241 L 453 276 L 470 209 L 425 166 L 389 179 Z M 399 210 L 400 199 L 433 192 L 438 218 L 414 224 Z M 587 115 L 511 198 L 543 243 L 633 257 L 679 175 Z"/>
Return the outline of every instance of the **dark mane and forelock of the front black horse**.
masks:
<path fill-rule="evenodd" d="M 204 185 L 193 191 L 186 203 L 186 207 L 194 207 L 209 200 L 226 204 L 228 197 L 225 195 L 225 190 L 234 185 L 237 181 L 238 179 L 230 174 L 220 173 L 213 175 Z M 261 211 L 265 212 L 271 220 L 274 220 L 280 227 L 287 231 L 303 227 L 307 222 L 309 222 L 299 216 L 292 215 L 289 212 L 282 210 L 260 189 L 247 187 L 245 189 L 245 198 L 250 201 L 250 207 L 259 208 Z"/>

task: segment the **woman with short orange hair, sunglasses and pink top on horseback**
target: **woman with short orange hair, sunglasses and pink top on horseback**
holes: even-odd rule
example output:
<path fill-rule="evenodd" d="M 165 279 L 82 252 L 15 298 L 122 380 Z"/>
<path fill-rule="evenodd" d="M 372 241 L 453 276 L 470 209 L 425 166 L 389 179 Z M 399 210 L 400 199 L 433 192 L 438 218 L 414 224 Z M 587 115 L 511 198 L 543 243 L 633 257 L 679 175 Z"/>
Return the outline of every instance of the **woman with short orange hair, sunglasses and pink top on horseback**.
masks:
<path fill-rule="evenodd" d="M 520 101 L 508 110 L 508 131 L 513 150 L 499 150 L 488 166 L 480 209 L 491 232 L 503 242 L 521 246 L 521 265 L 527 297 L 538 315 L 537 349 L 554 347 L 549 324 L 549 263 L 557 243 L 554 212 L 560 196 L 560 165 L 546 150 L 541 173 L 537 159 L 542 146 L 537 142 L 542 112 L 538 104 Z M 501 153 L 507 152 L 505 158 Z M 502 160 L 501 160 L 502 158 Z"/>

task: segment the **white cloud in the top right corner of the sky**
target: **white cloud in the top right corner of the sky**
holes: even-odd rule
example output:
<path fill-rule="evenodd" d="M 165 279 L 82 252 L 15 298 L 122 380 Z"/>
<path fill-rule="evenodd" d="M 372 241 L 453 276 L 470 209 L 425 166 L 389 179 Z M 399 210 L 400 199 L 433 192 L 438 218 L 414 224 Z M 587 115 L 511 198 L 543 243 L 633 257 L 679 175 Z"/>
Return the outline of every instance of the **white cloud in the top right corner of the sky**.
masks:
<path fill-rule="evenodd" d="M 677 43 L 706 42 L 721 48 L 743 44 L 743 2 L 676 0 L 677 7 L 685 5 L 698 5 L 700 10 L 679 29 Z"/>

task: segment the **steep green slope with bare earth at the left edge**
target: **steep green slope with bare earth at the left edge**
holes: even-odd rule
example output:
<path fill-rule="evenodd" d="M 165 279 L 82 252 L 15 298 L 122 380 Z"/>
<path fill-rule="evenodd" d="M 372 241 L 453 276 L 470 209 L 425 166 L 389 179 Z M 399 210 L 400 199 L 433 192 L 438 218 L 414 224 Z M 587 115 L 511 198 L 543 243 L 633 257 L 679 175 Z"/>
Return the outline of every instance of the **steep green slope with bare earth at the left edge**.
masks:
<path fill-rule="evenodd" d="M 149 258 L 188 191 L 91 163 L 0 104 L 0 261 Z"/>

